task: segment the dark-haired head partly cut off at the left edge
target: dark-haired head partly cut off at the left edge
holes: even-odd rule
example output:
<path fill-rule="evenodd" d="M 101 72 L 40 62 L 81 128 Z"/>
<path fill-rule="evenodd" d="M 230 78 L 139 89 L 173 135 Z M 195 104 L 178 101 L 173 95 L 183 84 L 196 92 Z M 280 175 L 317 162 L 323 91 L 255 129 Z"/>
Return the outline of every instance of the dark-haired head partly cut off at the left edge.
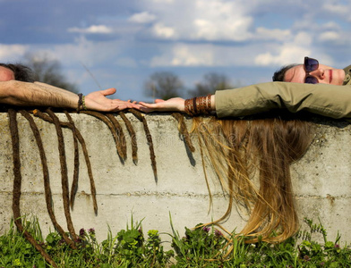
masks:
<path fill-rule="evenodd" d="M 0 81 L 19 80 L 33 82 L 33 73 L 27 66 L 22 64 L 0 63 Z"/>

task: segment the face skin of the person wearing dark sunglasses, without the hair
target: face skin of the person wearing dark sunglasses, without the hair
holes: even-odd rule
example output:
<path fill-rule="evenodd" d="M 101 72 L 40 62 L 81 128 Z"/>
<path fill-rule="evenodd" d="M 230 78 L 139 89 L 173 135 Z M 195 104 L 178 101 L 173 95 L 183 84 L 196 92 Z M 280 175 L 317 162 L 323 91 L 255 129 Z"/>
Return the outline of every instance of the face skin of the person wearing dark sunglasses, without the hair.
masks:
<path fill-rule="evenodd" d="M 315 77 L 321 84 L 341 86 L 345 80 L 344 70 L 335 69 L 323 64 L 320 64 L 316 71 L 311 71 L 309 75 Z M 301 64 L 287 70 L 284 80 L 286 82 L 304 83 L 305 78 L 306 71 L 304 71 L 304 65 Z"/>

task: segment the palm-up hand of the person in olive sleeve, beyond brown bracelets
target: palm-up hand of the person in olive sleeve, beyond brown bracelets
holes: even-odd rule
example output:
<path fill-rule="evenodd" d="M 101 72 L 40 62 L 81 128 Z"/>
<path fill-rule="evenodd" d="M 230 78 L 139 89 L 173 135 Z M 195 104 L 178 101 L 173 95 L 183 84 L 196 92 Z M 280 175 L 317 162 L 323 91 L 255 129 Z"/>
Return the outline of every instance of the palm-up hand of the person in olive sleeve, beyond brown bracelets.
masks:
<path fill-rule="evenodd" d="M 136 109 L 144 113 L 150 112 L 184 112 L 184 98 L 173 97 L 167 101 L 163 99 L 156 99 L 154 104 L 147 104 L 140 102 Z"/>

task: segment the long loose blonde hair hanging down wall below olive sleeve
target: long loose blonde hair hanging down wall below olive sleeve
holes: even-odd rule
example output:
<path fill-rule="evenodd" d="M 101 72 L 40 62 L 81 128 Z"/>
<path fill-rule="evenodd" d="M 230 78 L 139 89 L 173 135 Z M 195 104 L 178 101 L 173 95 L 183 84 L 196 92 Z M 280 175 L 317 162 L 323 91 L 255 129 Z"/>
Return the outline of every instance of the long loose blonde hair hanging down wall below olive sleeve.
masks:
<path fill-rule="evenodd" d="M 311 144 L 310 124 L 281 117 L 193 118 L 192 132 L 198 139 L 202 159 L 210 162 L 230 197 L 227 212 L 210 224 L 220 226 L 235 204 L 242 205 L 250 215 L 239 233 L 247 242 L 279 242 L 294 235 L 299 224 L 290 164 Z M 207 180 L 206 172 L 205 177 Z M 255 177 L 259 183 L 253 182 Z"/>

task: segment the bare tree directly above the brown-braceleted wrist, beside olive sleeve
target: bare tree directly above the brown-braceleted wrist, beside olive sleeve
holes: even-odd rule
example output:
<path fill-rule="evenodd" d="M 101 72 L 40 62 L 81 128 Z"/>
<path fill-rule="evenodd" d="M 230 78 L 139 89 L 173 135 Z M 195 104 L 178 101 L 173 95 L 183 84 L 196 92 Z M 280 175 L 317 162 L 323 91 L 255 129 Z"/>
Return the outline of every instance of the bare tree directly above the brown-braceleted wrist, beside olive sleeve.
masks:
<path fill-rule="evenodd" d="M 193 90 L 188 90 L 188 95 L 193 96 L 206 96 L 213 94 L 216 90 L 234 88 L 227 76 L 218 74 L 217 72 L 210 72 L 203 76 L 203 81 L 197 83 Z"/>

